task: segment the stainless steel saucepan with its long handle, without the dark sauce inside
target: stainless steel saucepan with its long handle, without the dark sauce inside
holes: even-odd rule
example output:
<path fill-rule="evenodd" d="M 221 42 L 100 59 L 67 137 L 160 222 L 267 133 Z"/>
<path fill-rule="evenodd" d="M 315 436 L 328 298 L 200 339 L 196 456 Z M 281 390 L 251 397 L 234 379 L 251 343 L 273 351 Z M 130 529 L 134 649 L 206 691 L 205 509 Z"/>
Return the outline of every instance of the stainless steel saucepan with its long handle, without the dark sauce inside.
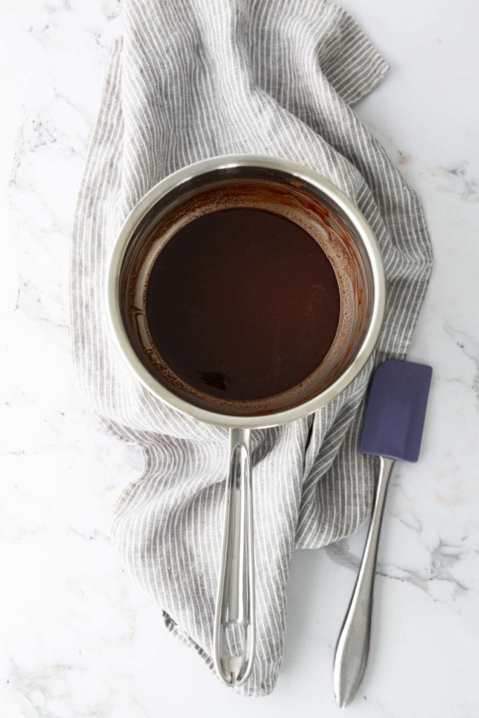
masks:
<path fill-rule="evenodd" d="M 296 213 L 302 226 L 320 242 L 330 258 L 341 300 L 338 332 L 314 381 L 305 385 L 304 393 L 294 406 L 284 409 L 281 403 L 273 401 L 268 411 L 254 415 L 231 411 L 218 403 L 213 408 L 202 405 L 165 381 L 152 367 L 139 324 L 152 259 L 151 250 L 146 249 L 152 232 L 164 218 L 187 200 L 200 196 L 205 189 L 239 187 L 242 182 L 256 183 L 261 192 L 273 192 L 274 206 L 266 209 L 278 214 L 287 209 L 290 218 L 292 212 Z M 254 663 L 251 429 L 300 419 L 338 396 L 371 356 L 381 331 L 385 302 L 381 253 L 360 210 L 325 177 L 286 159 L 234 155 L 213 157 L 184 167 L 145 195 L 126 219 L 116 240 L 108 273 L 107 306 L 111 332 L 124 360 L 157 398 L 198 421 L 230 429 L 225 526 L 212 650 L 215 670 L 228 685 L 237 686 L 246 681 Z M 239 651 L 233 650 L 232 630 L 236 637 L 240 636 Z"/>

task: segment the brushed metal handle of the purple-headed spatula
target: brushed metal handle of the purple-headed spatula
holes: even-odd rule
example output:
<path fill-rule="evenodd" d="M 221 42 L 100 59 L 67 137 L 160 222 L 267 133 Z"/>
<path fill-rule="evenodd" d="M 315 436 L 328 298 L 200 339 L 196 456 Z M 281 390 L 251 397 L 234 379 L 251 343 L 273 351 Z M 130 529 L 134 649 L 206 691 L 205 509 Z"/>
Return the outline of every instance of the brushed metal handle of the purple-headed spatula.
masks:
<path fill-rule="evenodd" d="M 394 459 L 380 457 L 371 523 L 348 611 L 336 645 L 332 684 L 340 708 L 347 707 L 361 685 L 368 662 L 379 534 Z"/>

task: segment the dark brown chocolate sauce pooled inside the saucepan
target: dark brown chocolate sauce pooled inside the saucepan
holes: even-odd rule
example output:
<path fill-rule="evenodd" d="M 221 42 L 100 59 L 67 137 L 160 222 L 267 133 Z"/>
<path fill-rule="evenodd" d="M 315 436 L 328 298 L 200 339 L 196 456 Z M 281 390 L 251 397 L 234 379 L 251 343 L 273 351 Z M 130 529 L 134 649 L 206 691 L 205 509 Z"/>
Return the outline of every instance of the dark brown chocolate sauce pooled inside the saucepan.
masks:
<path fill-rule="evenodd" d="M 167 242 L 146 312 L 154 344 L 182 381 L 252 401 L 287 391 L 320 365 L 338 328 L 340 292 L 304 229 L 264 210 L 228 209 Z"/>

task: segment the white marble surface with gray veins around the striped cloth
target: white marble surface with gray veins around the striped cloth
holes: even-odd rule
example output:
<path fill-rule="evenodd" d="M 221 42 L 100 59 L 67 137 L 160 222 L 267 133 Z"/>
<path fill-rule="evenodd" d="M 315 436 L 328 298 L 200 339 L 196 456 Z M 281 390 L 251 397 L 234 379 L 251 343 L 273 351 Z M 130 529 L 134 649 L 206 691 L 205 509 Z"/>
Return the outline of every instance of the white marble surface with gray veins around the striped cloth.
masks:
<path fill-rule="evenodd" d="M 347 0 L 391 62 L 358 107 L 424 201 L 434 274 L 410 357 L 434 366 L 422 459 L 391 486 L 366 679 L 349 713 L 479 715 L 479 4 Z M 294 556 L 274 694 L 220 686 L 108 541 L 140 457 L 75 388 L 68 253 L 115 0 L 0 3 L 1 718 L 335 717 L 332 651 L 363 531 Z"/>

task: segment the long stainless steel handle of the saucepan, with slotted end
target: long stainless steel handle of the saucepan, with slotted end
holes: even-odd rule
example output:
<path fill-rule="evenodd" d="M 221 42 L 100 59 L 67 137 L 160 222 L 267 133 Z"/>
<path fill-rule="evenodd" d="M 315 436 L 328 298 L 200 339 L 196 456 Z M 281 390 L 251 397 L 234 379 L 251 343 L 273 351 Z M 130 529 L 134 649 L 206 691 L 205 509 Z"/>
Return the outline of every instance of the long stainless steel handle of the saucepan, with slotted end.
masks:
<path fill-rule="evenodd" d="M 213 663 L 229 686 L 254 663 L 254 546 L 249 429 L 231 429 L 225 526 L 213 630 Z"/>

